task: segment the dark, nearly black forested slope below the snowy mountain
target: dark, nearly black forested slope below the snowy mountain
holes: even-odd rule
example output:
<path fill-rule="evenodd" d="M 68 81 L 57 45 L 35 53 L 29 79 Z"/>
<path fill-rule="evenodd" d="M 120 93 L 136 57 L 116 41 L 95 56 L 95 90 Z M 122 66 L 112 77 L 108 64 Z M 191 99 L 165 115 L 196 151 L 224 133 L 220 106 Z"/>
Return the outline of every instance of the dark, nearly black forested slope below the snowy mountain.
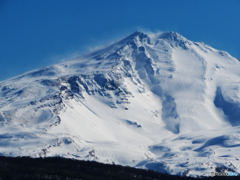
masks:
<path fill-rule="evenodd" d="M 120 165 L 79 161 L 59 157 L 0 157 L 1 180 L 194 180 L 152 170 L 135 169 Z M 208 179 L 239 179 L 239 177 L 213 177 Z"/>

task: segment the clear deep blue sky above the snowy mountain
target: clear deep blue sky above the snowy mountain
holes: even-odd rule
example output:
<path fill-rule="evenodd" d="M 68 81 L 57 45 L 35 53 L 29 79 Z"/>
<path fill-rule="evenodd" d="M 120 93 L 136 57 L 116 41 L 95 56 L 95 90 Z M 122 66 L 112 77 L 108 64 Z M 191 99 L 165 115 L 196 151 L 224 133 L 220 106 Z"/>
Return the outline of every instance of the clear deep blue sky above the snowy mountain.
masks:
<path fill-rule="evenodd" d="M 139 28 L 240 57 L 240 0 L 0 0 L 0 81 Z"/>

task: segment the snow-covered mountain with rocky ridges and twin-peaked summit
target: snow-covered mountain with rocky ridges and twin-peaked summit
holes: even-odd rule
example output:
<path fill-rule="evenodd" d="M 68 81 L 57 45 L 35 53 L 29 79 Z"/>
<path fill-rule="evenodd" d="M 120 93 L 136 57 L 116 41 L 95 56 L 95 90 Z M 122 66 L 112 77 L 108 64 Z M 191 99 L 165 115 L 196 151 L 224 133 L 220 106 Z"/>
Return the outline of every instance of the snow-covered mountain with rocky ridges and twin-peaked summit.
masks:
<path fill-rule="evenodd" d="M 141 32 L 0 82 L 0 155 L 63 156 L 170 174 L 240 172 L 240 62 Z"/>

